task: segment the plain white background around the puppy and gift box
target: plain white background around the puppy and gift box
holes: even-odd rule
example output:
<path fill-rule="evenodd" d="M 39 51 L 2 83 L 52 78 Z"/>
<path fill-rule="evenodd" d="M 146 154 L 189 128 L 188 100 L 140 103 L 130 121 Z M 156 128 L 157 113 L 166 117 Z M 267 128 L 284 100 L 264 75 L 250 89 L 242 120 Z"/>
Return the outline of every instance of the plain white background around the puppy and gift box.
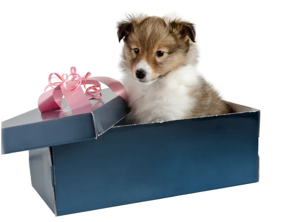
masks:
<path fill-rule="evenodd" d="M 126 13 L 197 26 L 198 68 L 226 100 L 261 110 L 260 182 L 55 218 L 31 187 L 28 152 L 0 155 L 0 221 L 297 221 L 297 5 L 288 0 L 0 3 L 1 121 L 37 108 L 52 72 L 119 79 Z M 295 212 L 294 212 L 295 211 Z"/>

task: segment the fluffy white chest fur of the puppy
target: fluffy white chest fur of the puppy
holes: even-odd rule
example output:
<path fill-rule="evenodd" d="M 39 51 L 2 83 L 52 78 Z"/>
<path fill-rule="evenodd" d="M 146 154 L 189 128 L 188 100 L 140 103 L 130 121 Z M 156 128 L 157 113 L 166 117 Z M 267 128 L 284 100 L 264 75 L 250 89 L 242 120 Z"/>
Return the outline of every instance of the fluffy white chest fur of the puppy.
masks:
<path fill-rule="evenodd" d="M 185 118 L 196 105 L 190 92 L 193 87 L 198 87 L 198 76 L 194 66 L 186 66 L 147 84 L 126 73 L 124 84 L 132 108 L 130 115 L 138 123 Z"/>

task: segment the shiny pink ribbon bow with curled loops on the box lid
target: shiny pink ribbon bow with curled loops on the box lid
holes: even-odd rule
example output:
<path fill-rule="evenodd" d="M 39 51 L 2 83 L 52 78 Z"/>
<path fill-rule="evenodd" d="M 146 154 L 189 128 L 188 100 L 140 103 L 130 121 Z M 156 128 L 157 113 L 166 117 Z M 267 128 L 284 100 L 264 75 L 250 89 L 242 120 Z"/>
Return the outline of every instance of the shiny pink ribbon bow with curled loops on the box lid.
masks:
<path fill-rule="evenodd" d="M 64 96 L 70 109 L 92 106 L 90 99 L 101 98 L 101 85 L 99 82 L 105 84 L 114 93 L 121 96 L 127 101 L 127 92 L 125 87 L 117 80 L 105 77 L 90 77 L 91 73 L 81 76 L 76 73 L 76 68 L 71 67 L 69 75 L 67 74 L 49 74 L 49 85 L 45 88 L 43 93 L 38 99 L 38 108 L 41 112 L 50 111 L 61 108 L 62 98 Z M 53 82 L 53 79 L 57 79 Z M 87 84 L 92 84 L 86 87 Z M 81 86 L 84 86 L 85 92 Z M 47 89 L 51 87 L 49 91 Z"/>

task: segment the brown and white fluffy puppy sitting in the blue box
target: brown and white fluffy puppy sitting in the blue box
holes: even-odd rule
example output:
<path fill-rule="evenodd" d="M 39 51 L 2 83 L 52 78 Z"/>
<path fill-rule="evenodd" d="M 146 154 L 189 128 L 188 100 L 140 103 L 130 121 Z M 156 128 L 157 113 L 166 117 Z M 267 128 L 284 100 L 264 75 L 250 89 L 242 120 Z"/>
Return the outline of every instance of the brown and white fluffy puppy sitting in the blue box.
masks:
<path fill-rule="evenodd" d="M 120 67 L 131 124 L 233 112 L 197 71 L 194 24 L 179 18 L 129 16 L 117 24 Z"/>

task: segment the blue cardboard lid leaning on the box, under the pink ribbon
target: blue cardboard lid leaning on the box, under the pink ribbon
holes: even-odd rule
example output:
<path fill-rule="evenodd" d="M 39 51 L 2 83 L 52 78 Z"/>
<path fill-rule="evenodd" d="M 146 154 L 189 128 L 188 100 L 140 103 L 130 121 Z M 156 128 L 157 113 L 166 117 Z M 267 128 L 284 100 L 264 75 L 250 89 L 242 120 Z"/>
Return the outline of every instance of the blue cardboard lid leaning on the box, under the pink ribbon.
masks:
<path fill-rule="evenodd" d="M 71 110 L 65 100 L 62 109 L 28 111 L 1 123 L 1 153 L 51 147 L 96 139 L 129 112 L 126 101 L 109 88 L 102 89 L 92 107 Z"/>

